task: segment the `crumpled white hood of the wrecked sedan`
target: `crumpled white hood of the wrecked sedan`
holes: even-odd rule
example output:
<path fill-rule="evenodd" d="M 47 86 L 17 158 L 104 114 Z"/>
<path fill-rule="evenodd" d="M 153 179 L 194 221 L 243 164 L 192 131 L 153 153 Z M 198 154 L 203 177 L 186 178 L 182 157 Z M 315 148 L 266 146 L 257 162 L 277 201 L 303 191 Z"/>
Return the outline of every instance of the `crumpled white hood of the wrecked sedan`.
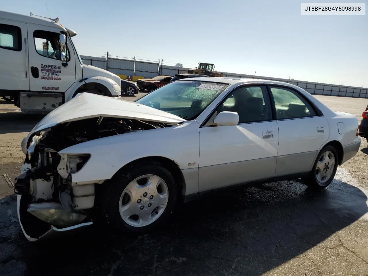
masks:
<path fill-rule="evenodd" d="M 57 124 L 100 116 L 137 119 L 166 124 L 178 124 L 185 121 L 176 115 L 139 103 L 91 93 L 80 93 L 69 102 L 54 109 L 39 121 L 31 132 L 29 132 L 26 141 L 35 132 L 45 130 Z"/>

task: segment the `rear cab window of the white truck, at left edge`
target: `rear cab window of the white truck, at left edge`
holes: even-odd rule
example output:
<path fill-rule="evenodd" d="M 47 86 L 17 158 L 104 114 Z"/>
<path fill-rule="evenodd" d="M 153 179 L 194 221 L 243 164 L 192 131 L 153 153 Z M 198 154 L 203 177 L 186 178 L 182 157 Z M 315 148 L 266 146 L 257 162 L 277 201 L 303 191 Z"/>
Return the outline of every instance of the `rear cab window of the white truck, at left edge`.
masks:
<path fill-rule="evenodd" d="M 21 28 L 13 25 L 0 24 L 0 48 L 21 51 Z"/>

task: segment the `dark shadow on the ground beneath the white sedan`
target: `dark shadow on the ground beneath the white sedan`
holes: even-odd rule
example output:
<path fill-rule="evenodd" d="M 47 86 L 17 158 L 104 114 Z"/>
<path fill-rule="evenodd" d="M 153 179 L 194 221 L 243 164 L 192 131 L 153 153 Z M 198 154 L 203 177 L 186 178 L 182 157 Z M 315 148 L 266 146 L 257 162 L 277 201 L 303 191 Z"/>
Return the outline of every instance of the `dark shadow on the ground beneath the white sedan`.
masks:
<path fill-rule="evenodd" d="M 180 205 L 144 236 L 95 226 L 36 243 L 18 238 L 17 258 L 24 275 L 262 275 L 358 220 L 366 201 L 337 180 L 318 192 L 296 181 L 238 187 Z"/>

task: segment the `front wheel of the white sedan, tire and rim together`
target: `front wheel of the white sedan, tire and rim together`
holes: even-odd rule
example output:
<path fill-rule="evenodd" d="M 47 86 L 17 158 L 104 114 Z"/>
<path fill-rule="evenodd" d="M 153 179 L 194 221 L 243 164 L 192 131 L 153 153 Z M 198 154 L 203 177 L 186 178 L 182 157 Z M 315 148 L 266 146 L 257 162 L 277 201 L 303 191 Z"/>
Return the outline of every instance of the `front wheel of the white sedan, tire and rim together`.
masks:
<path fill-rule="evenodd" d="M 157 188 L 149 184 L 158 178 Z M 153 231 L 170 216 L 177 199 L 177 187 L 169 170 L 150 162 L 118 172 L 102 194 L 102 211 L 109 229 L 136 235 Z"/>

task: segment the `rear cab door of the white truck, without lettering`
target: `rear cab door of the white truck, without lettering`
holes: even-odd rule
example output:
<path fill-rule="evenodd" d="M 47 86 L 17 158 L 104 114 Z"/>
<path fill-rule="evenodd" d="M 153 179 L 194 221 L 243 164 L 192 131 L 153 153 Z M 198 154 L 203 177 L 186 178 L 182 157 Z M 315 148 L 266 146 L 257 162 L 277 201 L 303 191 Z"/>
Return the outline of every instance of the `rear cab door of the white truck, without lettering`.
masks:
<path fill-rule="evenodd" d="M 28 90 L 27 25 L 0 19 L 0 89 Z"/>

